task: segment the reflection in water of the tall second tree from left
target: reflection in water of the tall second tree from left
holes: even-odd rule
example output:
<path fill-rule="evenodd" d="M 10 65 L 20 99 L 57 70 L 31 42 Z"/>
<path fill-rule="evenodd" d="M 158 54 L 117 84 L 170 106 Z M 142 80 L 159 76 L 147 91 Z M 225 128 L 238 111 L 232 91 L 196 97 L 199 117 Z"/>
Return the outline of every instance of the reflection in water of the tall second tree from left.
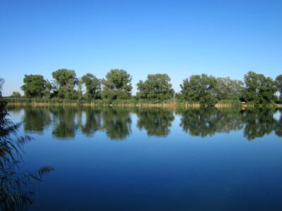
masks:
<path fill-rule="evenodd" d="M 57 138 L 74 138 L 78 124 L 75 122 L 75 114 L 78 113 L 76 107 L 51 108 L 53 114 L 54 129 L 52 134 Z"/>

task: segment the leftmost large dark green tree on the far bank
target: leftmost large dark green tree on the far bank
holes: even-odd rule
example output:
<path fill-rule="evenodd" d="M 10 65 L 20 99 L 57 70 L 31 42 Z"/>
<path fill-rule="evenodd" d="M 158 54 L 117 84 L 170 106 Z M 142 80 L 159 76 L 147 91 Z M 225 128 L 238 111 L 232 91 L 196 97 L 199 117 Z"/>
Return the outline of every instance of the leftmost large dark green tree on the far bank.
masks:
<path fill-rule="evenodd" d="M 27 98 L 42 98 L 46 89 L 43 75 L 25 75 L 21 89 Z"/>

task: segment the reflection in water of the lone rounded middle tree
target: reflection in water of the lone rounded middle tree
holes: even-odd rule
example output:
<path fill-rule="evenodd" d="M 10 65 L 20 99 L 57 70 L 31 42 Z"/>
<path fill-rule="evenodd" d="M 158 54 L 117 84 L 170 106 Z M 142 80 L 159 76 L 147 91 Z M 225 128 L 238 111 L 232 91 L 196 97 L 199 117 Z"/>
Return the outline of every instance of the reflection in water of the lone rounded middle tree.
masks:
<path fill-rule="evenodd" d="M 148 136 L 167 136 L 174 120 L 172 110 L 164 108 L 138 108 L 138 129 L 145 129 Z"/>

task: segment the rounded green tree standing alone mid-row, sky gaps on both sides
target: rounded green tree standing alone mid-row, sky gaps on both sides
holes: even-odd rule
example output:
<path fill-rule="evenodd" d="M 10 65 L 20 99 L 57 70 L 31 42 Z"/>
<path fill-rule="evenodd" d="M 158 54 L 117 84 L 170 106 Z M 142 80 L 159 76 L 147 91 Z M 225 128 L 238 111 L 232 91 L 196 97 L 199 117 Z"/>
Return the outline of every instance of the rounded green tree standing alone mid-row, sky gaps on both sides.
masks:
<path fill-rule="evenodd" d="M 173 98 L 174 90 L 171 88 L 171 78 L 166 74 L 147 75 L 145 82 L 137 83 L 137 98 L 160 102 Z"/>

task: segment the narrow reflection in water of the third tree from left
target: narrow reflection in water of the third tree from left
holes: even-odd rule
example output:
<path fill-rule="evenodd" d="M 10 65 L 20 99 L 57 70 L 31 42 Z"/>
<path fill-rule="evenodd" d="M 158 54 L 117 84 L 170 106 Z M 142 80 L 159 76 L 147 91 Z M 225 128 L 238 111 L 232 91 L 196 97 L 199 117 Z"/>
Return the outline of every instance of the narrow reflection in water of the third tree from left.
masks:
<path fill-rule="evenodd" d="M 101 109 L 86 107 L 78 112 L 78 127 L 87 136 L 101 129 Z"/>

